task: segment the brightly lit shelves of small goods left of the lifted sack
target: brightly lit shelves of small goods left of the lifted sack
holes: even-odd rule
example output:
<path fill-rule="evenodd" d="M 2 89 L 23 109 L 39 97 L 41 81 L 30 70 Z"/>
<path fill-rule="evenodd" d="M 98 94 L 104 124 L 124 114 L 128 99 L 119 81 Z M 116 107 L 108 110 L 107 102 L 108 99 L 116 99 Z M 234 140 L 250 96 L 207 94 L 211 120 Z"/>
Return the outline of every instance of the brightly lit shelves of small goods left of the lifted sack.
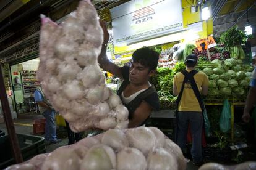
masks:
<path fill-rule="evenodd" d="M 23 70 L 22 83 L 23 83 L 23 93 L 32 94 L 35 91 L 36 87 L 39 86 L 39 82 L 36 79 L 36 71 Z"/>

